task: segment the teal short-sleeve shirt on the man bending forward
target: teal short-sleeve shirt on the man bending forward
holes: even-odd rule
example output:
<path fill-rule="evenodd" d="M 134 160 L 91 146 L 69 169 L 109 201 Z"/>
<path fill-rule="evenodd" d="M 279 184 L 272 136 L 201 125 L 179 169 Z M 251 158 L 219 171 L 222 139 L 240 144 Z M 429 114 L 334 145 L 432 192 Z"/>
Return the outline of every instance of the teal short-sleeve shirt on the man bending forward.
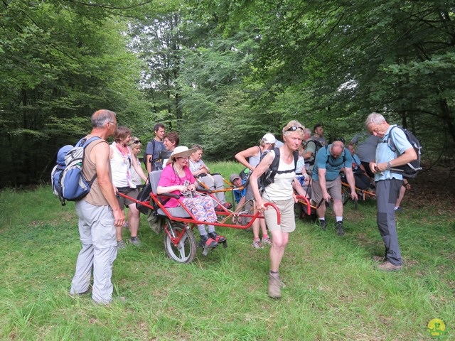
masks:
<path fill-rule="evenodd" d="M 319 168 L 326 170 L 326 180 L 328 181 L 333 181 L 338 178 L 341 168 L 352 168 L 353 158 L 350 156 L 350 153 L 344 149 L 343 153 L 341 153 L 338 158 L 333 158 L 330 153 L 331 146 L 332 145 L 329 144 L 326 148 L 319 149 L 313 168 L 313 180 L 319 181 Z"/>

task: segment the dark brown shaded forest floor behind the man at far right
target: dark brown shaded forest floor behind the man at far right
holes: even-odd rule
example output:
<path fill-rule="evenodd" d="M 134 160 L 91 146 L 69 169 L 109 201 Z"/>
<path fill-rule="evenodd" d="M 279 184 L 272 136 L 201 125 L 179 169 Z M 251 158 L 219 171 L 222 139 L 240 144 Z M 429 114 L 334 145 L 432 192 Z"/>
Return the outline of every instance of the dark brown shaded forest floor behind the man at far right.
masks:
<path fill-rule="evenodd" d="M 411 203 L 416 208 L 441 205 L 444 210 L 455 213 L 455 168 L 433 166 L 410 179 L 410 184 L 412 188 L 403 200 L 407 206 Z"/>

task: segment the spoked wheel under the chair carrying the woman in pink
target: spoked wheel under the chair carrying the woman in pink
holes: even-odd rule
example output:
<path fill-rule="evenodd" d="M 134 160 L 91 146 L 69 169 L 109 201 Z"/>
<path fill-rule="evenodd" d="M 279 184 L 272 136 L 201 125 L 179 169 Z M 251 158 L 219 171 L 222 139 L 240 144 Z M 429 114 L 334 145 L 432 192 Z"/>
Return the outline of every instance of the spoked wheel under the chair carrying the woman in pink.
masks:
<path fill-rule="evenodd" d="M 168 257 L 178 263 L 191 263 L 196 257 L 196 237 L 193 231 L 181 222 L 166 220 L 164 232 L 164 249 Z M 179 238 L 178 244 L 174 244 L 173 240 Z"/>

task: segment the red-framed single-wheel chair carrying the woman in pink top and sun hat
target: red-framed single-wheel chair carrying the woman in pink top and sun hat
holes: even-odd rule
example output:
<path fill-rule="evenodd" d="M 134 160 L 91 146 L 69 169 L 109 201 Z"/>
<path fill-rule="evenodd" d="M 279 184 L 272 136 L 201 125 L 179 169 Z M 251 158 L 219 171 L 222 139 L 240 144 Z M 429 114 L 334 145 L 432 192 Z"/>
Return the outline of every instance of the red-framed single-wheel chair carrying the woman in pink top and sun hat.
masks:
<path fill-rule="evenodd" d="M 178 263 L 191 263 L 196 257 L 196 249 L 198 244 L 196 243 L 196 237 L 193 233 L 193 228 L 198 224 L 212 224 L 219 227 L 231 227 L 235 229 L 248 229 L 251 227 L 252 223 L 257 218 L 262 218 L 263 216 L 259 212 L 245 212 L 242 211 L 242 207 L 237 207 L 237 210 L 231 211 L 223 207 L 223 210 L 217 211 L 218 216 L 217 222 L 203 222 L 199 221 L 194 217 L 191 211 L 186 207 L 181 201 L 178 195 L 171 193 L 165 193 L 158 195 L 156 194 L 156 188 L 158 186 L 159 178 L 161 171 L 152 171 L 149 173 L 149 188 L 150 194 L 144 200 L 138 197 L 134 199 L 128 195 L 118 193 L 122 197 L 126 197 L 130 200 L 136 202 L 139 211 L 149 215 L 151 220 L 154 220 L 159 229 L 155 232 L 160 232 L 161 229 L 164 230 L 164 249 L 169 258 L 177 261 Z M 211 195 L 210 191 L 198 191 L 202 193 L 201 195 L 209 195 L 214 202 L 218 202 L 214 195 Z M 203 193 L 204 192 L 204 193 Z M 164 207 L 164 202 L 169 197 L 174 197 L 179 206 L 178 207 Z M 218 202 L 219 204 L 220 202 Z M 216 205 L 216 204 L 215 204 Z M 281 217 L 277 206 L 272 203 L 267 202 L 265 206 L 271 206 L 270 209 L 277 211 L 277 223 L 281 223 Z M 254 205 L 253 205 L 254 207 Z M 242 220 L 243 222 L 248 221 L 246 224 L 237 224 L 237 220 Z M 228 247 L 227 242 L 223 242 L 223 247 Z M 207 256 L 208 247 L 203 246 L 203 255 Z"/>

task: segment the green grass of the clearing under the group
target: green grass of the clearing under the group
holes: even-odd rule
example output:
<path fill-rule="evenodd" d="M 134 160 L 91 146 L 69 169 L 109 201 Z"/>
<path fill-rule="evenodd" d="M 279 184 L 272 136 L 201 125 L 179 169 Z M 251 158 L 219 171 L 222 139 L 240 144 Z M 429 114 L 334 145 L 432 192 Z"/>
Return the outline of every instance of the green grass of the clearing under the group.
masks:
<path fill-rule="evenodd" d="M 241 167 L 209 165 L 228 178 Z M 348 203 L 346 236 L 299 220 L 280 272 L 283 298 L 267 297 L 267 249 L 251 232 L 218 228 L 229 247 L 192 264 L 166 257 L 163 235 L 141 219 L 143 246 L 114 263 L 114 296 L 95 305 L 68 295 L 80 249 L 74 204 L 49 187 L 0 193 L 1 340 L 454 340 L 455 223 L 441 206 L 397 216 L 405 269 L 377 271 L 375 203 Z M 329 223 L 333 217 L 328 213 Z M 125 233 L 126 237 L 126 233 Z M 433 318 L 448 332 L 434 339 Z"/>

